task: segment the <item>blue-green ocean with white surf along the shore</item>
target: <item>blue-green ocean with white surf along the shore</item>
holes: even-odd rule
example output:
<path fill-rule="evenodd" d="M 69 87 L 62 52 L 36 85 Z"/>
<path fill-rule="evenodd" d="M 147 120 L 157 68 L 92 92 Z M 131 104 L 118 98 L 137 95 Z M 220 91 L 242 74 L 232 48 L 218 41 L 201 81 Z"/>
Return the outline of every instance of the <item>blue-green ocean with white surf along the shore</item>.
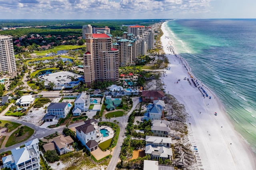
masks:
<path fill-rule="evenodd" d="M 176 52 L 256 153 L 256 19 L 171 20 L 165 27 Z"/>

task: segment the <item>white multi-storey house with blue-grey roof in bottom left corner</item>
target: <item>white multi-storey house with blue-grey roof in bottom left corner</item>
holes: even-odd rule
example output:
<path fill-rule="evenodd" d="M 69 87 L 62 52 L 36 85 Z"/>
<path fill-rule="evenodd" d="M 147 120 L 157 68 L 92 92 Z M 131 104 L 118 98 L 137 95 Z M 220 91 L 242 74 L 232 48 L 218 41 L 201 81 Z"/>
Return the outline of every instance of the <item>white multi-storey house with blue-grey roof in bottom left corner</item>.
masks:
<path fill-rule="evenodd" d="M 2 158 L 4 168 L 11 170 L 40 170 L 38 139 L 25 143 L 25 147 L 12 149 L 12 155 Z"/>

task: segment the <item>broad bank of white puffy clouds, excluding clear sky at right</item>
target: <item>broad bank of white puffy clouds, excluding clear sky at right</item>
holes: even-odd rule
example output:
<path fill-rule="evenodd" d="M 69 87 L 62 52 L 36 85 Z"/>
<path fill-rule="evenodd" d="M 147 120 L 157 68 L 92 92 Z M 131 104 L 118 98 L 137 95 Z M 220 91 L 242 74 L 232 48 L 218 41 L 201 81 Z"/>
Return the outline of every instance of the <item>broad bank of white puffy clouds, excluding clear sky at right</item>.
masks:
<path fill-rule="evenodd" d="M 211 0 L 0 0 L 2 8 L 23 19 L 172 18 L 173 14 L 208 12 Z M 23 2 L 23 3 L 22 3 Z M 24 14 L 24 16 L 23 16 Z M 25 15 L 26 14 L 26 15 Z M 35 15 L 36 14 L 36 15 Z M 0 16 L 8 19 L 11 17 Z M 16 18 L 19 19 L 19 18 Z M 25 19 L 25 18 L 24 18 Z"/>

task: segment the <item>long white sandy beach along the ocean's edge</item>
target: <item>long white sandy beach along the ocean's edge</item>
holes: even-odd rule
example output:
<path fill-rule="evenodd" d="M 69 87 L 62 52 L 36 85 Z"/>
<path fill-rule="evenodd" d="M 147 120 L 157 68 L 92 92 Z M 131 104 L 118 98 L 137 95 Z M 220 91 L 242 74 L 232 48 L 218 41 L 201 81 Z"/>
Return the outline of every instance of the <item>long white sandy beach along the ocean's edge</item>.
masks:
<path fill-rule="evenodd" d="M 194 77 L 186 61 L 173 53 L 175 49 L 170 48 L 172 37 L 168 37 L 165 24 L 166 22 L 161 27 L 164 32 L 161 41 L 170 62 L 170 70 L 165 70 L 164 88 L 166 93 L 172 94 L 186 107 L 189 114 L 189 140 L 192 149 L 193 146 L 197 147 L 197 158 L 202 162 L 199 169 L 256 170 L 255 154 L 234 130 L 223 104 L 210 89 Z M 193 76 L 197 87 L 188 72 Z M 202 87 L 208 97 L 203 97 L 203 91 L 200 89 L 200 92 L 198 87 Z"/>

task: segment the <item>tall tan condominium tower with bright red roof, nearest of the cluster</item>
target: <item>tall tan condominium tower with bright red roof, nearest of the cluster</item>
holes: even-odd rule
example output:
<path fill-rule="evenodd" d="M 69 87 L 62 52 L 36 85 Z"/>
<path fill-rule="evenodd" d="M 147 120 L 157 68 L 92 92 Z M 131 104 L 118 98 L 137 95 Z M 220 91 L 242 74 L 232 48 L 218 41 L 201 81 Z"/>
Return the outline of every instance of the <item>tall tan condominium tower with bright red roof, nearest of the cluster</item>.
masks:
<path fill-rule="evenodd" d="M 112 37 L 105 33 L 86 36 L 85 83 L 90 86 L 93 82 L 118 81 L 119 51 L 112 48 Z"/>

